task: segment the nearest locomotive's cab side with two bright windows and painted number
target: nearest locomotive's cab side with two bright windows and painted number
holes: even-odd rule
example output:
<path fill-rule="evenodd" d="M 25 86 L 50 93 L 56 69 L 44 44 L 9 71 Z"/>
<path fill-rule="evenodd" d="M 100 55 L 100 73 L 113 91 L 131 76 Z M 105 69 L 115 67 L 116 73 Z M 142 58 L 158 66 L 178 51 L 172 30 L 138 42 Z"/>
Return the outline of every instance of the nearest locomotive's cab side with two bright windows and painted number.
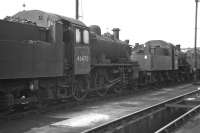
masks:
<path fill-rule="evenodd" d="M 90 72 L 89 31 L 86 27 L 64 24 L 65 66 L 72 65 L 75 75 Z"/>

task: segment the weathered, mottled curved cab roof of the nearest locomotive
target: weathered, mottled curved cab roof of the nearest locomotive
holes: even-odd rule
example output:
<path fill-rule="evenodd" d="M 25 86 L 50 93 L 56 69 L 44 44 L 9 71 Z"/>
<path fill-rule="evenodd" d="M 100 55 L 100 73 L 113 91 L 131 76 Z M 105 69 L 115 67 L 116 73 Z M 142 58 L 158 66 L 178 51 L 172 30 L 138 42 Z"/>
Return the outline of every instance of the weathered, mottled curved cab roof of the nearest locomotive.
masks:
<path fill-rule="evenodd" d="M 67 21 L 76 25 L 86 26 L 83 22 L 79 20 L 57 14 L 47 13 L 40 10 L 25 10 L 18 12 L 12 17 L 17 19 L 29 20 L 40 27 L 49 27 L 51 23 L 54 23 L 56 21 Z"/>

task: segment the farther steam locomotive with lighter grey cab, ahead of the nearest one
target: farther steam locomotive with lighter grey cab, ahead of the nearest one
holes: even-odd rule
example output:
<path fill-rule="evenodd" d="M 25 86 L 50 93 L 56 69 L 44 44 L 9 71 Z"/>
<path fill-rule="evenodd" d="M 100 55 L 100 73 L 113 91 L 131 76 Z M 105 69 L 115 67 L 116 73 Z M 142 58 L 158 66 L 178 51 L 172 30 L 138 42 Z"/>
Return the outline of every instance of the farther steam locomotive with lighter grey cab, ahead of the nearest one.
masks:
<path fill-rule="evenodd" d="M 184 82 L 193 78 L 191 64 L 181 51 L 180 45 L 174 46 L 163 40 L 151 40 L 136 44 L 131 60 L 139 62 L 139 83 L 163 85 L 170 82 Z"/>

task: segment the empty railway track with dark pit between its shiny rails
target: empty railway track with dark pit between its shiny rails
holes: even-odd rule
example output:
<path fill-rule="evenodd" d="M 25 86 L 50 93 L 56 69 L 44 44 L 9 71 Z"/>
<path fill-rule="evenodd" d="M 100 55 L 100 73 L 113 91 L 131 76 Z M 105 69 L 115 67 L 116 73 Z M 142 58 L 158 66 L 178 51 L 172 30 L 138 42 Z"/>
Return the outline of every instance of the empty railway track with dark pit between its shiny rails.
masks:
<path fill-rule="evenodd" d="M 81 133 L 170 133 L 199 111 L 200 90 L 195 90 Z"/>

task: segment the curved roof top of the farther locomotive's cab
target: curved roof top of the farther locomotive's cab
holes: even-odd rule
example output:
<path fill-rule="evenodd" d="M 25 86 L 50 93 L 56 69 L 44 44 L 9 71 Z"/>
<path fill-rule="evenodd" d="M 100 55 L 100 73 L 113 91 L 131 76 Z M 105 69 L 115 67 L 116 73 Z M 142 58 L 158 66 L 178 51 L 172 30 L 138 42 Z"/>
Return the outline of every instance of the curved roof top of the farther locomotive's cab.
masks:
<path fill-rule="evenodd" d="M 172 44 L 163 40 L 151 40 L 151 41 L 146 42 L 145 45 L 149 47 L 170 48 Z"/>

